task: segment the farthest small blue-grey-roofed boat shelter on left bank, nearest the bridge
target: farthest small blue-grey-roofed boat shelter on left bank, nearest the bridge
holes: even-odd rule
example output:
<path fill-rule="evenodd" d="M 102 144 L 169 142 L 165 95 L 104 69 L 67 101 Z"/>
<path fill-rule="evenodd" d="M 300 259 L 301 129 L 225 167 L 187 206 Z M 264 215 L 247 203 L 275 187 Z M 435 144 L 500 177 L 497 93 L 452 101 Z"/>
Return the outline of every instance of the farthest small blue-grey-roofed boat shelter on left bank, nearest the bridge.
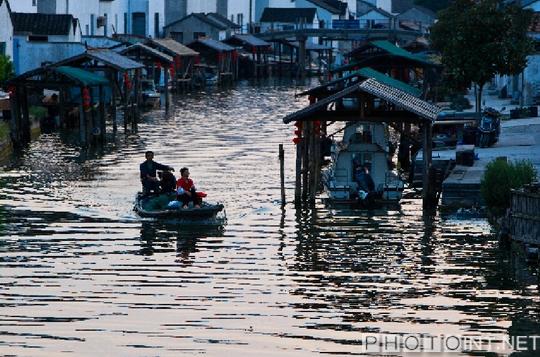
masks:
<path fill-rule="evenodd" d="M 252 75 L 254 77 L 269 74 L 270 64 L 268 55 L 272 52 L 272 44 L 270 42 L 261 40 L 251 34 L 236 34 L 223 42 L 244 53 L 240 60 L 245 59 L 246 63 L 241 63 L 240 69 L 252 68 Z M 248 76 L 250 73 L 244 73 L 244 75 Z"/>

